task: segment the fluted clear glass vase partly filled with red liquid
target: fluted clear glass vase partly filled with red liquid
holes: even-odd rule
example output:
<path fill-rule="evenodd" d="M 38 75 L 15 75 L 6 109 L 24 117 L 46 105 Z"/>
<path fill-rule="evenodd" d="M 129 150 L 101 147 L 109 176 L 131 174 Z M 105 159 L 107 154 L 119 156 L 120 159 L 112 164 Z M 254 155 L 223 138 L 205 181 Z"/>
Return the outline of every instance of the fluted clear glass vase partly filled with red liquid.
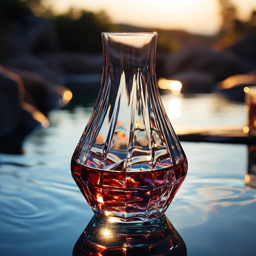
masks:
<path fill-rule="evenodd" d="M 153 220 L 187 172 L 157 88 L 157 34 L 102 33 L 102 41 L 101 89 L 74 151 L 72 175 L 101 218 Z"/>

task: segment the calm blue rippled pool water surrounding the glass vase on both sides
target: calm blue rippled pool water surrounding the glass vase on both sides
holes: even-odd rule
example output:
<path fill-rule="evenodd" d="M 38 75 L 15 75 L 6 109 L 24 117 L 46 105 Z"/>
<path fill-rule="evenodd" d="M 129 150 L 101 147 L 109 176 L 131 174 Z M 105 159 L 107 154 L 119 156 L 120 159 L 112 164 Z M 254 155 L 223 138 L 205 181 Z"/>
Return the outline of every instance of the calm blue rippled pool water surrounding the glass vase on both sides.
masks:
<path fill-rule="evenodd" d="M 173 124 L 243 126 L 241 103 L 216 94 L 162 95 Z M 176 99 L 172 105 L 171 99 Z M 24 155 L 0 155 L 0 255 L 72 255 L 93 212 L 70 173 L 70 159 L 92 111 L 92 102 L 53 110 L 50 126 L 31 133 Z M 244 144 L 182 141 L 188 175 L 166 218 L 189 256 L 253 255 L 256 190 L 245 186 Z"/>

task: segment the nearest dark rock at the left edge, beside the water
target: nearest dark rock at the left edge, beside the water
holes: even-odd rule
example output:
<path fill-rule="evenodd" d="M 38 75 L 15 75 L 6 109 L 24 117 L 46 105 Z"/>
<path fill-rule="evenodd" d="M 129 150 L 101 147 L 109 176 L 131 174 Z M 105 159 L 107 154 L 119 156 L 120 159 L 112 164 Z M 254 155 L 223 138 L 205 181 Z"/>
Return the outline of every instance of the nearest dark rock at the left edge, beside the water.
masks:
<path fill-rule="evenodd" d="M 22 141 L 40 123 L 24 108 L 20 76 L 0 67 L 0 152 L 22 153 Z"/>

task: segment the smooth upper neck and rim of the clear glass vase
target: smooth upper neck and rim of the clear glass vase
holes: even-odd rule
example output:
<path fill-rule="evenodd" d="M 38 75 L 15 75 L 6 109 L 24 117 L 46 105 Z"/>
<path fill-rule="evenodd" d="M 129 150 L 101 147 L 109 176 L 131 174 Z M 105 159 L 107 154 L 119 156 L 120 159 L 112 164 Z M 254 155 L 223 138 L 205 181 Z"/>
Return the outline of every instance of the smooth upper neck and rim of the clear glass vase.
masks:
<path fill-rule="evenodd" d="M 127 79 L 155 74 L 157 33 L 102 33 L 103 72 Z"/>

